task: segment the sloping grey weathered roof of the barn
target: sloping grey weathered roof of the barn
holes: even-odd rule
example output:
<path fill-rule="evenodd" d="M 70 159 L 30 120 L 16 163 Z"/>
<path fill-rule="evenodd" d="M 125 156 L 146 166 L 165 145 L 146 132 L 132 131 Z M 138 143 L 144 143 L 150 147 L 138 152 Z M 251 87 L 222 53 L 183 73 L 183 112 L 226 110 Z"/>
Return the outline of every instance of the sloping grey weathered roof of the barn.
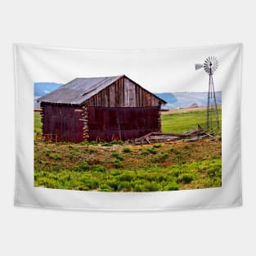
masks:
<path fill-rule="evenodd" d="M 38 98 L 38 102 L 80 105 L 84 101 L 87 101 L 90 97 L 96 95 L 98 92 L 101 92 L 103 89 L 110 86 L 110 84 L 114 83 L 116 80 L 124 76 L 125 75 L 100 77 L 100 78 L 74 79 L 69 83 L 62 85 L 60 88 L 56 89 L 55 91 L 50 92 L 47 95 Z M 154 97 L 157 97 L 155 96 L 155 94 L 151 92 L 150 94 Z M 159 99 L 159 101 L 162 101 L 164 104 L 166 103 L 164 100 L 160 99 L 159 97 L 157 98 Z"/>

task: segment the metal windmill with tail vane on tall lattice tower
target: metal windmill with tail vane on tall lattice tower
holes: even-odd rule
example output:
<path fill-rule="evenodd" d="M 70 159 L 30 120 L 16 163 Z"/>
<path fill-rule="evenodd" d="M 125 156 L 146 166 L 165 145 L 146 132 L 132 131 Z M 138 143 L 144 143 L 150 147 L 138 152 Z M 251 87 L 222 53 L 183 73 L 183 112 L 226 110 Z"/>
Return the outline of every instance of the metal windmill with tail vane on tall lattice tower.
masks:
<path fill-rule="evenodd" d="M 200 70 L 201 68 L 204 68 L 204 71 L 207 74 L 209 74 L 209 90 L 206 110 L 206 129 L 213 130 L 213 122 L 216 122 L 217 128 L 219 129 L 218 108 L 213 84 L 213 73 L 218 69 L 218 59 L 214 56 L 209 56 L 204 61 L 204 65 L 195 64 L 195 70 Z"/>

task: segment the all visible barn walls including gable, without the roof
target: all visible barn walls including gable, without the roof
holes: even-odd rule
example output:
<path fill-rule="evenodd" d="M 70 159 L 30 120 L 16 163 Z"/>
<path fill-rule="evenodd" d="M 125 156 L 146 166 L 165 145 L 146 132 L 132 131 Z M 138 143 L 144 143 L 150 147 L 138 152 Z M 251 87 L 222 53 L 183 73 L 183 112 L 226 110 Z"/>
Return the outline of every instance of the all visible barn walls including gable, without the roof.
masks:
<path fill-rule="evenodd" d="M 161 102 L 132 80 L 122 77 L 83 106 L 42 103 L 43 135 L 57 141 L 112 141 L 160 132 Z"/>

